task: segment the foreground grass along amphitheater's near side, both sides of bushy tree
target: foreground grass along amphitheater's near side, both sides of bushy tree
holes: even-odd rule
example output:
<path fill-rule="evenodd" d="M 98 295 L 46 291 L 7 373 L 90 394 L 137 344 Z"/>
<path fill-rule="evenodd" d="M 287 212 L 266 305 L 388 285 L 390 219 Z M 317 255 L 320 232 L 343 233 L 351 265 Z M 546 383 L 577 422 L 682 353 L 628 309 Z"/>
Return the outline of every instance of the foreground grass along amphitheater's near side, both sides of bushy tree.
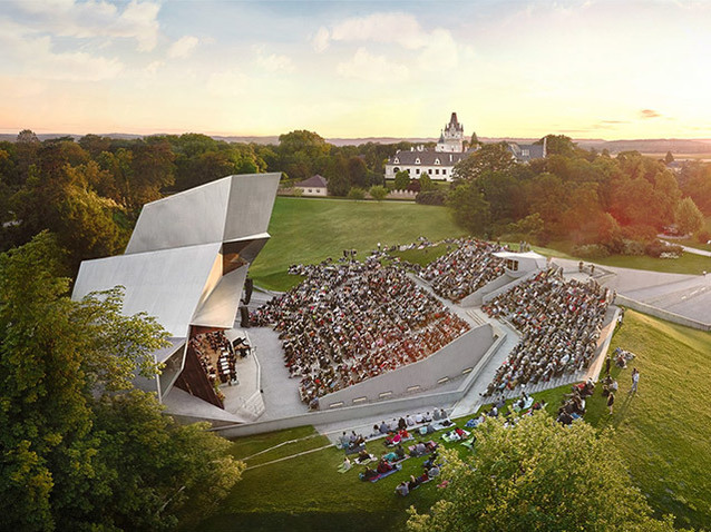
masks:
<path fill-rule="evenodd" d="M 616 346 L 637 357 L 626 370 L 613 366 L 620 382 L 615 413 L 607 415 L 598 387 L 587 402 L 586 420 L 601 430 L 615 428 L 614 440 L 634 482 L 659 514 L 673 513 L 679 525 L 710 528 L 711 408 L 705 397 L 711 334 L 627 311 L 611 348 Z M 627 400 L 632 365 L 641 372 L 640 394 Z M 553 414 L 568 391 L 565 386 L 535 397 L 548 401 Z M 466 418 L 459 420 L 459 426 Z M 246 463 L 254 466 L 327 444 L 312 427 L 299 427 L 238 439 L 232 452 L 240 459 L 252 456 Z M 380 455 L 386 447 L 376 441 L 368 450 Z M 195 530 L 397 531 L 402 530 L 410 504 L 427 510 L 438 497 L 435 482 L 407 499 L 392 492 L 403 477 L 420 471 L 423 457 L 406 461 L 402 472 L 374 484 L 360 482 L 359 469 L 337 473 L 342 457 L 342 451 L 328 447 L 247 470 L 220 513 Z"/>

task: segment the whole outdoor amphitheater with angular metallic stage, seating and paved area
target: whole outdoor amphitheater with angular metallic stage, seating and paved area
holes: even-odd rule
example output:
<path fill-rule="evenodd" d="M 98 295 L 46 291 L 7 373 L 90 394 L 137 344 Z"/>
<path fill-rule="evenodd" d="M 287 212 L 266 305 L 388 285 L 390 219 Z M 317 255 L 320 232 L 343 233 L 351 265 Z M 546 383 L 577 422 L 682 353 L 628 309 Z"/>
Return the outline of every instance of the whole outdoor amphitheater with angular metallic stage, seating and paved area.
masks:
<path fill-rule="evenodd" d="M 279 174 L 230 176 L 144 207 L 126 253 L 85 262 L 75 298 L 125 287 L 169 333 L 136 384 L 225 436 L 313 425 L 333 441 L 383 418 L 449 417 L 595 381 L 621 308 L 709 329 L 707 276 L 601 267 L 471 238 L 379 244 L 253 286 Z M 316 236 L 318 237 L 318 236 Z M 427 266 L 407 249 L 444 250 Z M 432 252 L 434 253 L 434 252 Z"/>

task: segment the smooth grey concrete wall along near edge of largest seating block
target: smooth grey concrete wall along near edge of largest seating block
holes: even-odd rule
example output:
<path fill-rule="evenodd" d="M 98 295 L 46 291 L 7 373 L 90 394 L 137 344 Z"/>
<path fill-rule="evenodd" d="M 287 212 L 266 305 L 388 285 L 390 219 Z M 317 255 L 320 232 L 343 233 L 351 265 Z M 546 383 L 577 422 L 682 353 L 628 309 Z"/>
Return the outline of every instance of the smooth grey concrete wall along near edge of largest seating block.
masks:
<path fill-rule="evenodd" d="M 427 358 L 353 384 L 319 400 L 321 410 L 371 403 L 432 390 L 471 371 L 494 343 L 489 324 L 462 334 Z"/>

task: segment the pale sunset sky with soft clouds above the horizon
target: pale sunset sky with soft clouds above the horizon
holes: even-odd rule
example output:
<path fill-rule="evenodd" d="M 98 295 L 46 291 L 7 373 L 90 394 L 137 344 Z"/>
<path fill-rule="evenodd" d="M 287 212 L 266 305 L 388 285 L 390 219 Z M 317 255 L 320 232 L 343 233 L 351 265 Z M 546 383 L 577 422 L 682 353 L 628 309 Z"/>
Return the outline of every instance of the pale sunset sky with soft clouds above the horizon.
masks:
<path fill-rule="evenodd" d="M 0 131 L 711 138 L 710 1 L 0 0 Z"/>

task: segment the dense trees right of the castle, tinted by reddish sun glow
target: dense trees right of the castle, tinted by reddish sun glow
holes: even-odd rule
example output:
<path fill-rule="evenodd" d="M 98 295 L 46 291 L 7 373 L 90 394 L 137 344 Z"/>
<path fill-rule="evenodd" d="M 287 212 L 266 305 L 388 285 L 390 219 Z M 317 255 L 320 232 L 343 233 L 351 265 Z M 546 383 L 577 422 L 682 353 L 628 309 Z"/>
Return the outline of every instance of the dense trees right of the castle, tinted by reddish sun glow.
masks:
<path fill-rule="evenodd" d="M 547 146 L 548 157 L 528 165 L 500 144 L 460 161 L 447 198 L 457 221 L 476 235 L 571 239 L 583 253 L 600 255 L 650 253 L 655 235 L 672 225 L 699 231 L 697 204 L 711 215 L 707 166 L 688 165 L 678 180 L 664 161 L 636 151 L 611 157 L 563 136 L 548 136 Z"/>

